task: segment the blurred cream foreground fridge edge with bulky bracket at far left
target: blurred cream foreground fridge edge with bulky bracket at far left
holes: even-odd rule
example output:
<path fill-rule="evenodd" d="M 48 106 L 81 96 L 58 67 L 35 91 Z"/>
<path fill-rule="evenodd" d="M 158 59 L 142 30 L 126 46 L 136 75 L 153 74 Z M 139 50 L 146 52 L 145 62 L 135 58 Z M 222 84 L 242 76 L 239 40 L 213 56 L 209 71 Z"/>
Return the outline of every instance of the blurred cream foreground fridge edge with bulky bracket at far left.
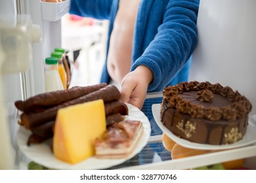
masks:
<path fill-rule="evenodd" d="M 4 100 L 3 75 L 25 72 L 32 61 L 32 42 L 40 41 L 41 30 L 32 24 L 29 15 L 1 16 L 0 18 L 0 169 L 14 169 L 15 152 L 12 148 L 7 107 Z"/>

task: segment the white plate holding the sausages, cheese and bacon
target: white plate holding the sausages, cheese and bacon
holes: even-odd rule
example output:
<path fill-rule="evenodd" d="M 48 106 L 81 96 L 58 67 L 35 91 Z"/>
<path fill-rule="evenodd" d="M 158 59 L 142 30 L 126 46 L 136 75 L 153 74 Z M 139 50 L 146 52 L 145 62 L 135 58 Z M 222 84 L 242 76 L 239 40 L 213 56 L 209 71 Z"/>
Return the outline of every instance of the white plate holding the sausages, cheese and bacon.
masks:
<path fill-rule="evenodd" d="M 28 158 L 33 161 L 52 169 L 107 169 L 108 167 L 112 167 L 114 165 L 119 165 L 128 159 L 133 158 L 136 154 L 146 146 L 148 139 L 150 137 L 151 127 L 148 118 L 145 116 L 143 112 L 141 112 L 138 108 L 134 107 L 127 103 L 127 107 L 129 109 L 128 118 L 130 120 L 139 120 L 143 125 L 143 133 L 140 138 L 137 146 L 127 158 L 122 159 L 98 159 L 95 157 L 91 157 L 77 163 L 75 165 L 65 163 L 59 159 L 56 159 L 49 148 L 47 142 L 42 144 L 32 144 L 31 146 L 27 146 L 28 137 L 31 132 L 26 130 L 24 127 L 20 127 L 18 129 L 17 134 L 17 143 L 20 147 L 20 150 L 28 156 Z"/>

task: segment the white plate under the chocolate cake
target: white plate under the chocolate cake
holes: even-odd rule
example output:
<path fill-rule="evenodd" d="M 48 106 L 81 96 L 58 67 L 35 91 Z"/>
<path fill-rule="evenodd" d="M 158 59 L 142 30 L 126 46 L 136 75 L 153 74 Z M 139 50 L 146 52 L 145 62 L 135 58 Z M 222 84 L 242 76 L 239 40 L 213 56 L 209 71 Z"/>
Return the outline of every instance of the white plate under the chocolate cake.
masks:
<path fill-rule="evenodd" d="M 200 144 L 196 142 L 190 142 L 185 139 L 181 139 L 180 137 L 177 137 L 167 127 L 165 127 L 161 123 L 161 116 L 160 116 L 160 104 L 154 104 L 152 105 L 152 113 L 154 116 L 154 119 L 156 120 L 156 124 L 160 127 L 160 129 L 166 133 L 166 135 L 171 138 L 173 141 L 177 142 L 177 144 L 180 144 L 181 146 L 184 146 L 186 148 L 193 148 L 193 149 L 200 149 L 200 150 L 224 150 L 224 149 L 230 149 L 230 148 L 239 148 L 242 146 L 246 146 L 249 144 L 253 144 L 256 142 L 256 128 L 251 126 L 250 124 L 247 126 L 247 131 L 243 137 L 242 140 L 235 142 L 234 144 L 223 144 L 223 145 L 211 145 L 211 144 Z"/>

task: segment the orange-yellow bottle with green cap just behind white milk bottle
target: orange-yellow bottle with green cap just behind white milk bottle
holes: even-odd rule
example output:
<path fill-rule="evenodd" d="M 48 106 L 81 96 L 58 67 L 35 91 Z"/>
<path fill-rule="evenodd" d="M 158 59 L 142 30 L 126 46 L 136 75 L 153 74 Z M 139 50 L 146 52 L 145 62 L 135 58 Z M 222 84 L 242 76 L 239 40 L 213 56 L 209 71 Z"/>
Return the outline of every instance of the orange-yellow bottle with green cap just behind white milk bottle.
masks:
<path fill-rule="evenodd" d="M 63 84 L 64 90 L 67 89 L 67 75 L 62 61 L 62 52 L 53 52 L 51 53 L 51 57 L 58 58 L 58 73 L 60 74 L 60 78 Z"/>

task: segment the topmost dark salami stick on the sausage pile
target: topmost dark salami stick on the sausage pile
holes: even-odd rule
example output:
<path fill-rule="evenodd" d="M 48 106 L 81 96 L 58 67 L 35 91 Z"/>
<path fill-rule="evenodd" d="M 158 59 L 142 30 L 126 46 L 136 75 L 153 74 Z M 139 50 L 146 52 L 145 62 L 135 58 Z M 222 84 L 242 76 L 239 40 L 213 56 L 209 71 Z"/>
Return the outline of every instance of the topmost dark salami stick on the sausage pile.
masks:
<path fill-rule="evenodd" d="M 58 90 L 54 92 L 41 93 L 30 97 L 26 101 L 16 101 L 16 108 L 26 113 L 33 112 L 33 108 L 53 107 L 72 99 L 87 95 L 107 86 L 106 83 L 95 84 L 92 86 L 75 86 L 69 90 Z"/>

